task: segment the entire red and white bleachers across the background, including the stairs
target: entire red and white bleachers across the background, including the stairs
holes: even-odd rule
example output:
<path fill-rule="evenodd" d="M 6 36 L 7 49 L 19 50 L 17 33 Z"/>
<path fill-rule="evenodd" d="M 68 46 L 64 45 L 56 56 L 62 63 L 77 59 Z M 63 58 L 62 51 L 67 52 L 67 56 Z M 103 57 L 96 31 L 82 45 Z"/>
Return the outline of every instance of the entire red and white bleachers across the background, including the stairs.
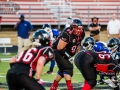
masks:
<path fill-rule="evenodd" d="M 6 1 L 6 0 L 1 0 Z M 120 17 L 120 0 L 9 0 L 17 3 L 20 10 L 7 15 L 2 13 L 2 25 L 14 25 L 21 13 L 33 25 L 50 23 L 63 25 L 67 17 L 80 18 L 87 25 L 93 16 L 99 17 L 101 24 L 106 25 L 111 14 Z M 71 1 L 71 2 L 70 2 Z M 114 1 L 114 2 L 113 2 Z M 60 9 L 58 9 L 60 7 Z M 12 16 L 11 16 L 12 15 Z"/>

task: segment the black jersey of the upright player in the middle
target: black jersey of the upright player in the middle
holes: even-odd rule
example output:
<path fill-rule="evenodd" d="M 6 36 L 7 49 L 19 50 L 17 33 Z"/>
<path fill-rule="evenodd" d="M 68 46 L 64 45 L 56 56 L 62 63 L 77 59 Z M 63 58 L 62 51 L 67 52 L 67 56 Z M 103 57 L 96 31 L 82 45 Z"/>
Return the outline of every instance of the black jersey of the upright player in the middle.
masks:
<path fill-rule="evenodd" d="M 81 45 L 81 41 L 84 36 L 84 32 L 81 36 L 76 36 L 72 33 L 70 28 L 66 28 L 64 32 L 58 37 L 58 39 L 53 43 L 53 48 L 56 49 L 59 40 L 62 39 L 64 42 L 67 42 L 67 45 L 65 47 L 66 52 L 69 55 L 73 56 L 76 53 L 78 45 Z"/>

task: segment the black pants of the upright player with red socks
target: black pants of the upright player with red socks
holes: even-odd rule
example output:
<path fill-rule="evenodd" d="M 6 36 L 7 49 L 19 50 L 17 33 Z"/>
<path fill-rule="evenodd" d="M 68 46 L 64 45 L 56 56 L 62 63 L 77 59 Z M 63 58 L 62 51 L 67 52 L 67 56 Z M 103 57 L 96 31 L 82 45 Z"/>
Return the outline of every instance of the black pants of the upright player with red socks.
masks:
<path fill-rule="evenodd" d="M 71 77 L 73 76 L 73 64 L 71 64 L 68 59 L 63 58 L 57 50 L 55 50 L 55 60 L 59 68 L 59 75 L 61 77 L 64 77 L 64 73 L 69 74 Z"/>

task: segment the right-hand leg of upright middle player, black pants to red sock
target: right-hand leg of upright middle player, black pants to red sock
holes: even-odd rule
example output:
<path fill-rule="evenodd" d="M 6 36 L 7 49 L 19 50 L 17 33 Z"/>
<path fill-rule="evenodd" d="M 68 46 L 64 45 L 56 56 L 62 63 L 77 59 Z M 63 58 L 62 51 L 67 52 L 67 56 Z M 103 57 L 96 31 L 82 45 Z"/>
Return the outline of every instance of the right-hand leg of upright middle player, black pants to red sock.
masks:
<path fill-rule="evenodd" d="M 63 56 L 61 56 L 58 51 L 55 51 L 55 55 L 56 55 L 56 62 L 57 62 L 59 71 L 60 73 L 64 74 L 67 87 L 69 89 L 71 88 L 72 90 L 71 77 L 73 75 L 73 65 L 70 63 L 69 60 L 63 58 Z"/>

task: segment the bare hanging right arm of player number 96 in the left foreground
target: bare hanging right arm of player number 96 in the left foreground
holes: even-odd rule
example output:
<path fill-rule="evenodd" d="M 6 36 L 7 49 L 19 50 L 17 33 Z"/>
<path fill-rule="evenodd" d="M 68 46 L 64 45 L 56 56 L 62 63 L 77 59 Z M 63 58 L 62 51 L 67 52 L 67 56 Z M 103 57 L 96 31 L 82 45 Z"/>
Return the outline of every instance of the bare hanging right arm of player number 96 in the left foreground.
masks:
<path fill-rule="evenodd" d="M 46 62 L 46 58 L 41 56 L 37 62 L 36 67 L 36 80 L 40 80 L 40 76 L 42 75 L 43 67 Z"/>

